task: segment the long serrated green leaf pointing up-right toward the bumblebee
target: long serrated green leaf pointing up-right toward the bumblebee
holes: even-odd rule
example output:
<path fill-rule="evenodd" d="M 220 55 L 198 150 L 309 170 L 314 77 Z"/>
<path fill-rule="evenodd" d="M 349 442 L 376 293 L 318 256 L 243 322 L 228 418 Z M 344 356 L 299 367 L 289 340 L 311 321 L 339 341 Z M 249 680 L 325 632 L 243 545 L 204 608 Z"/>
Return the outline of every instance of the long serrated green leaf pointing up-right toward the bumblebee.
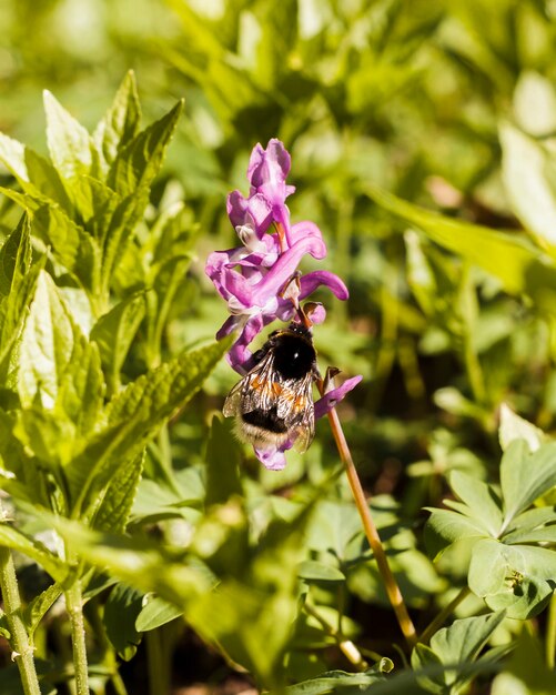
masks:
<path fill-rule="evenodd" d="M 184 353 L 130 384 L 108 407 L 108 425 L 65 470 L 82 504 L 91 503 L 120 466 L 135 459 L 160 426 L 201 387 L 230 340 Z"/>

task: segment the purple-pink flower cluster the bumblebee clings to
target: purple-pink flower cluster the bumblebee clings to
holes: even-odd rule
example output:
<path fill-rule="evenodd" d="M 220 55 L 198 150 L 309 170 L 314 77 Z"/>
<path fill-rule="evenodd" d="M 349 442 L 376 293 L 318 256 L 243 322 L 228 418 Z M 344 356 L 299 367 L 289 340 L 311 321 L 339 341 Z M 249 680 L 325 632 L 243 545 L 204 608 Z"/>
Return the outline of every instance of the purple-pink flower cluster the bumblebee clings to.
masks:
<path fill-rule="evenodd" d="M 233 191 L 226 205 L 242 245 L 211 253 L 206 261 L 205 272 L 228 302 L 231 314 L 216 338 L 239 332 L 228 360 L 242 375 L 255 364 L 249 345 L 256 335 L 276 319 L 286 322 L 295 320 L 299 301 L 316 288 L 327 286 L 340 300 L 348 296 L 347 288 L 334 273 L 319 270 L 301 275 L 297 271 L 305 254 L 323 259 L 326 245 L 321 230 L 313 222 L 291 224 L 285 203 L 295 190 L 286 184 L 290 167 L 290 154 L 280 140 L 272 139 L 266 149 L 261 144 L 253 149 L 247 169 L 250 194 L 244 198 L 240 191 Z M 287 291 L 292 278 L 295 278 L 296 285 L 294 301 Z M 321 304 L 311 303 L 306 312 L 312 324 L 325 319 Z M 315 403 L 315 417 L 330 411 L 360 381 L 360 376 L 350 379 L 325 394 Z M 283 467 L 269 465 L 269 461 L 263 460 L 260 452 L 256 453 L 267 467 Z"/>

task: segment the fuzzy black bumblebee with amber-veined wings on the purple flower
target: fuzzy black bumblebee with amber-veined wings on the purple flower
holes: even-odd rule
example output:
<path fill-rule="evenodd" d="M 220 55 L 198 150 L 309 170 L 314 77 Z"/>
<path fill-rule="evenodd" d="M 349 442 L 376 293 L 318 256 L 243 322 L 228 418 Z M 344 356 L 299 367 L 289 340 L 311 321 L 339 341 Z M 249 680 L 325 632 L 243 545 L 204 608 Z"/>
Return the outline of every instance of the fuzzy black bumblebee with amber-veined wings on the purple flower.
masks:
<path fill-rule="evenodd" d="M 311 329 L 292 323 L 274 331 L 255 352 L 255 366 L 230 392 L 223 413 L 235 416 L 237 435 L 255 449 L 289 440 L 304 452 L 313 441 L 313 382 L 319 377 Z"/>

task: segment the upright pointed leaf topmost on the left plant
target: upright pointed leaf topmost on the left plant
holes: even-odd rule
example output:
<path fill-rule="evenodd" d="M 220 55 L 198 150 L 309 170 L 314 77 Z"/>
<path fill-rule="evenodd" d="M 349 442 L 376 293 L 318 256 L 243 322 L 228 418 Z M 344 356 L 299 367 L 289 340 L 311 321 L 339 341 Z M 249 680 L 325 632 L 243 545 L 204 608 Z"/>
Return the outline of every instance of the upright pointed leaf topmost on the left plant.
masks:
<path fill-rule="evenodd" d="M 133 140 L 139 131 L 141 108 L 133 71 L 130 70 L 118 90 L 112 105 L 92 135 L 105 172 L 118 151 Z"/>

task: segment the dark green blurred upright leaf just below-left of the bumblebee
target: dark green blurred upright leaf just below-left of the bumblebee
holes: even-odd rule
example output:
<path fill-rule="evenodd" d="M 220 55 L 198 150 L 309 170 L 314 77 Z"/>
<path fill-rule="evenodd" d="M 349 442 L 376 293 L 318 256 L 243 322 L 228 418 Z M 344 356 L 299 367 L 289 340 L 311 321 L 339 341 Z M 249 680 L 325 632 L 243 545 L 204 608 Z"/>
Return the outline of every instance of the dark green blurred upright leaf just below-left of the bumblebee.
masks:
<path fill-rule="evenodd" d="M 206 506 L 222 504 L 232 495 L 242 494 L 240 463 L 241 449 L 230 421 L 215 415 L 206 444 Z"/>

